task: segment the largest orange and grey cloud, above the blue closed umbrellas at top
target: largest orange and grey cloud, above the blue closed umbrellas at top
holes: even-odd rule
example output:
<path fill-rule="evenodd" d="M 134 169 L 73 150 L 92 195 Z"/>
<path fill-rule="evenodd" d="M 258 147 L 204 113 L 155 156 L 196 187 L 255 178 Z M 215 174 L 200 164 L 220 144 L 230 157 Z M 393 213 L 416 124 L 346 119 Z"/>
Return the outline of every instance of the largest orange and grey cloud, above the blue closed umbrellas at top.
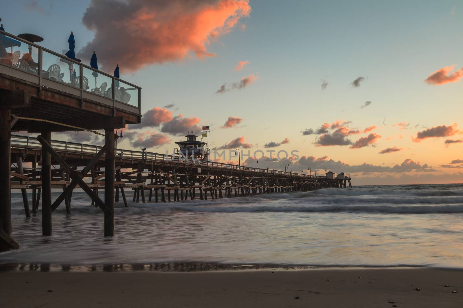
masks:
<path fill-rule="evenodd" d="M 249 0 L 92 1 L 82 23 L 95 36 L 78 55 L 95 50 L 105 70 L 119 64 L 122 72 L 182 61 L 190 53 L 214 57 L 207 51 L 211 40 L 230 32 L 250 12 Z"/>

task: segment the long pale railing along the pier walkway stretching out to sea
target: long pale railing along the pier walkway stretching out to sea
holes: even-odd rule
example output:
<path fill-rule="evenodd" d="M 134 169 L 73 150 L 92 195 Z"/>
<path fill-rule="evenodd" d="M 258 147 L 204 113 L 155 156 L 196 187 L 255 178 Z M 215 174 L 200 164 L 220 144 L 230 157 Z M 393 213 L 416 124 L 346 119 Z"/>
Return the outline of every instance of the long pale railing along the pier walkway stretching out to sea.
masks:
<path fill-rule="evenodd" d="M 69 142 L 69 141 L 61 141 L 61 140 L 51 140 L 51 146 L 56 149 L 57 151 L 65 151 L 65 152 L 74 152 L 74 153 L 82 153 L 82 154 L 96 154 L 100 151 L 101 146 L 99 145 L 88 145 L 76 142 Z M 27 149 L 40 149 L 41 144 L 35 137 L 29 136 L 22 136 L 22 135 L 11 135 L 11 147 L 13 148 L 27 148 Z M 291 172 L 284 172 L 280 170 L 273 170 L 273 169 L 261 169 L 261 168 L 253 168 L 248 166 L 238 166 L 229 163 L 217 163 L 212 161 L 206 160 L 190 160 L 181 155 L 167 155 L 167 154 L 160 154 L 156 152 L 146 152 L 146 151 L 133 151 L 133 150 L 125 150 L 125 149 L 115 149 L 115 156 L 116 158 L 125 158 L 125 159 L 136 159 L 136 160 L 144 160 L 146 162 L 168 162 L 168 161 L 175 161 L 181 163 L 187 163 L 194 165 L 196 167 L 213 167 L 213 168 L 221 168 L 221 169 L 235 169 L 235 170 L 243 170 L 243 171 L 253 171 L 253 172 L 263 172 L 267 174 L 274 174 L 274 175 L 285 175 L 285 176 L 297 176 L 297 177 L 304 177 L 308 179 L 321 179 L 325 178 L 325 176 L 318 176 L 318 175 L 305 175 L 300 173 L 291 173 Z"/>

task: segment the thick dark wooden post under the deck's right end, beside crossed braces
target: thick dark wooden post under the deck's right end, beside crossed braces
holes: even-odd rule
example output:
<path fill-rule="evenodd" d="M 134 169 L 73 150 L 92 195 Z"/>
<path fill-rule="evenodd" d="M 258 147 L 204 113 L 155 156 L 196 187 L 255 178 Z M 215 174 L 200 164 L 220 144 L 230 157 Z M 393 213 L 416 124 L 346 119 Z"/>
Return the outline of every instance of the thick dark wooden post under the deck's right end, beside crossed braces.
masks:
<path fill-rule="evenodd" d="M 114 129 L 105 129 L 105 236 L 114 236 Z"/>

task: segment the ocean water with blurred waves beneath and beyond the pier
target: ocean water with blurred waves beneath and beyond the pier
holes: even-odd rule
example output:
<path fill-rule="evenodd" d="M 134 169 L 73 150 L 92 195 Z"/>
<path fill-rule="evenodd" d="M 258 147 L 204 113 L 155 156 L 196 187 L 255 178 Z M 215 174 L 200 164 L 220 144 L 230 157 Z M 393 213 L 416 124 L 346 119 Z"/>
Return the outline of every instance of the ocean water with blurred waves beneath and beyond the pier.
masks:
<path fill-rule="evenodd" d="M 128 208 L 118 202 L 113 238 L 103 237 L 103 212 L 75 192 L 71 214 L 63 202 L 52 219 L 53 236 L 42 236 L 40 209 L 25 218 L 21 194 L 13 193 L 12 236 L 20 248 L 0 253 L 0 263 L 463 268 L 463 184 L 129 202 Z"/>

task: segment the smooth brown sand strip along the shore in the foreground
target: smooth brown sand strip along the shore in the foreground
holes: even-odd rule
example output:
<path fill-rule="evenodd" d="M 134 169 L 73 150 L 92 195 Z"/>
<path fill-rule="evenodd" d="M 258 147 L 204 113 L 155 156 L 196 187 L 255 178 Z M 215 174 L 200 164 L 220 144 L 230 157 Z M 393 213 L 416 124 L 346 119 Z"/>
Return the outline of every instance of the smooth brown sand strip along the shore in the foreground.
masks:
<path fill-rule="evenodd" d="M 0 281 L 0 307 L 463 307 L 463 272 L 430 268 L 13 271 Z"/>

